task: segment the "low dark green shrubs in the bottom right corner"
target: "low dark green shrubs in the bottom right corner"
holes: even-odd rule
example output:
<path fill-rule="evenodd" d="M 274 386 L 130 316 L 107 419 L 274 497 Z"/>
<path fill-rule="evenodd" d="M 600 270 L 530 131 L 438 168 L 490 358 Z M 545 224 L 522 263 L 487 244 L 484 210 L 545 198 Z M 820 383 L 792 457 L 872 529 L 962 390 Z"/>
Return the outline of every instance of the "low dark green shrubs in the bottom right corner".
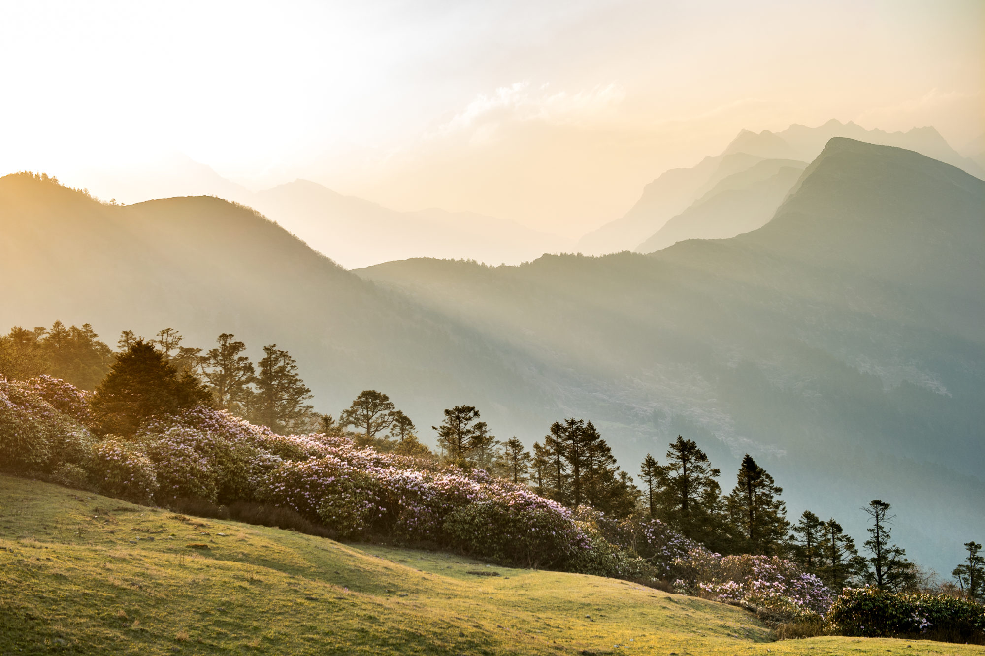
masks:
<path fill-rule="evenodd" d="M 830 632 L 863 637 L 948 633 L 958 640 L 985 638 L 985 607 L 948 595 L 903 594 L 845 588 L 827 616 Z"/>

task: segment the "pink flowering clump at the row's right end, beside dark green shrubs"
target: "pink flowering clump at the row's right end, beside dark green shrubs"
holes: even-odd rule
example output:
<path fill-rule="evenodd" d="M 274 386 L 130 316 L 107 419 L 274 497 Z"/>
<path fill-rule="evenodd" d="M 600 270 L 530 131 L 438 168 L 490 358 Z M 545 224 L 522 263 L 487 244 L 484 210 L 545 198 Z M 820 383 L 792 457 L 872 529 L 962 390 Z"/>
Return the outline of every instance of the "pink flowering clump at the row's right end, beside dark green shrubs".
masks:
<path fill-rule="evenodd" d="M 701 548 L 676 558 L 674 569 L 682 592 L 745 606 L 774 622 L 821 620 L 834 601 L 820 578 L 775 556 L 723 557 Z"/>

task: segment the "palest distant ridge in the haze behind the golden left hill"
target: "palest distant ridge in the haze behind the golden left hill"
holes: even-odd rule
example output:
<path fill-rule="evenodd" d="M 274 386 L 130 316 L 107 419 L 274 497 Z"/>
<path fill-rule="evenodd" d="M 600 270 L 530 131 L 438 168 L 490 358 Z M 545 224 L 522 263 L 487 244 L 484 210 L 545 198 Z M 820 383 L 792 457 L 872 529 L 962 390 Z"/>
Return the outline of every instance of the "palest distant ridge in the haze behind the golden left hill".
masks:
<path fill-rule="evenodd" d="M 180 154 L 82 178 L 94 193 L 126 203 L 206 195 L 241 203 L 350 269 L 409 257 L 519 264 L 573 245 L 557 234 L 471 212 L 399 212 L 303 179 L 253 192 Z"/>

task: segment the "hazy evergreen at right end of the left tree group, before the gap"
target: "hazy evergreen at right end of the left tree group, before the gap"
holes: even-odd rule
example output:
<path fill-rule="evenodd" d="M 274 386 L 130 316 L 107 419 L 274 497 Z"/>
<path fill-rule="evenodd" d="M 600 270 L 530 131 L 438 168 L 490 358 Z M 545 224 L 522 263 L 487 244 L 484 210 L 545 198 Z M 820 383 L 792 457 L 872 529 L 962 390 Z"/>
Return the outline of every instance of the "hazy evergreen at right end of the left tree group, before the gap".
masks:
<path fill-rule="evenodd" d="M 271 344 L 263 348 L 256 376 L 256 394 L 251 399 L 253 421 L 276 432 L 304 430 L 312 422 L 311 390 L 297 374 L 295 359 Z"/>

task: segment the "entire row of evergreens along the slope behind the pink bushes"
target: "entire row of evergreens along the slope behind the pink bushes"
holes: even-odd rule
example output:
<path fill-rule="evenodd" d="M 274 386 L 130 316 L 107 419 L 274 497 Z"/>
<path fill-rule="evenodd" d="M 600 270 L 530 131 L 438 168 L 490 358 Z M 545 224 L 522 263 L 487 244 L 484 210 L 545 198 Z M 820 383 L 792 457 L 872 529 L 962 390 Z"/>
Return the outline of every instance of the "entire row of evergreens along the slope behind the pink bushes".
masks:
<path fill-rule="evenodd" d="M 0 373 L 14 379 L 47 373 L 94 391 L 92 409 L 104 433 L 133 434 L 150 417 L 210 405 L 277 432 L 347 434 L 360 446 L 485 469 L 571 508 L 589 505 L 618 518 L 648 515 L 721 554 L 795 559 L 835 590 L 856 582 L 899 591 L 912 589 L 919 578 L 917 567 L 892 542 L 889 503 L 874 499 L 863 508 L 871 524 L 863 556 L 833 517 L 821 520 L 805 510 L 791 524 L 780 498 L 783 489 L 748 453 L 735 487 L 723 494 L 717 481 L 721 471 L 693 440 L 679 435 L 664 464 L 650 454 L 643 459 L 640 489 L 592 422 L 555 422 L 531 452 L 516 436 L 497 439 L 469 405 L 444 410 L 441 424 L 431 426 L 435 452 L 421 441 L 414 422 L 376 390 L 363 390 L 338 420 L 315 413 L 296 361 L 276 344 L 264 347 L 254 364 L 245 344 L 230 333 L 219 335 L 208 351 L 182 342 L 172 328 L 151 339 L 125 330 L 114 353 L 89 324 L 14 327 L 0 335 Z M 985 592 L 981 545 L 964 546 L 968 557 L 952 576 L 965 594 L 980 598 Z"/>

